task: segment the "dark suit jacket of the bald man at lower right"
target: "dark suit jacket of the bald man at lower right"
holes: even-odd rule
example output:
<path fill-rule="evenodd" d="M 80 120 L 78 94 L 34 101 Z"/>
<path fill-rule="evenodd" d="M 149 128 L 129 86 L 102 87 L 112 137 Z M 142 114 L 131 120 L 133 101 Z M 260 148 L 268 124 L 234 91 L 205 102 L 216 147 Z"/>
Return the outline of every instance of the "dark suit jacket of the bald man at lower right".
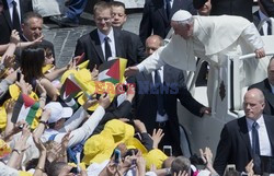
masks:
<path fill-rule="evenodd" d="M 263 115 L 266 131 L 274 152 L 274 118 Z M 222 175 L 227 164 L 236 164 L 236 169 L 244 172 L 244 167 L 252 160 L 251 143 L 246 117 L 235 119 L 225 125 L 221 130 L 220 141 L 217 148 L 214 168 Z"/>

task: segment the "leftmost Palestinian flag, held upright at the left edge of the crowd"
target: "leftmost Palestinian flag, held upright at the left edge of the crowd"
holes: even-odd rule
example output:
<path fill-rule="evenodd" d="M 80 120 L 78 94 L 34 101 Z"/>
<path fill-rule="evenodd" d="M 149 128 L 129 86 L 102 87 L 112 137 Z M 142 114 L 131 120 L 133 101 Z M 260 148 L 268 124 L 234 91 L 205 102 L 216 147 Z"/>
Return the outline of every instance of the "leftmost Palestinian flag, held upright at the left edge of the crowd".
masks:
<path fill-rule="evenodd" d="M 31 126 L 38 109 L 38 102 L 26 94 L 20 94 L 13 108 L 11 121 L 16 124 L 20 120 L 25 120 Z"/>

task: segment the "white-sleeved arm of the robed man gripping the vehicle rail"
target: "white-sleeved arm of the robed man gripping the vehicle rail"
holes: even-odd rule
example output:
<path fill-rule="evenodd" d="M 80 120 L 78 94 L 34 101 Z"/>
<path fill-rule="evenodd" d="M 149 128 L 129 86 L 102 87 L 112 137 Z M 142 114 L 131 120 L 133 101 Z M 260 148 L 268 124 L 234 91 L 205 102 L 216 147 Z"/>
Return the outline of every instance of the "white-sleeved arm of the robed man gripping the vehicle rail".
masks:
<path fill-rule="evenodd" d="M 256 54 L 256 58 L 265 56 L 263 40 L 253 23 L 250 23 L 250 25 L 243 30 L 241 37 L 252 47 Z"/>

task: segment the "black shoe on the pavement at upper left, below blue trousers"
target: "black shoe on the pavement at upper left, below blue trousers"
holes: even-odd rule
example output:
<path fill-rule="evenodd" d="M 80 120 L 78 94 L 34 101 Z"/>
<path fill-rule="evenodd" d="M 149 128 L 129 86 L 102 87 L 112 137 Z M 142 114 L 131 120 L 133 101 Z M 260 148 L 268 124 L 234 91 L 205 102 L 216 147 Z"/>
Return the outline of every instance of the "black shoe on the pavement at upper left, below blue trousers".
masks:
<path fill-rule="evenodd" d="M 68 16 L 50 16 L 49 20 L 57 23 L 60 27 L 77 27 L 79 26 L 79 20 L 72 20 Z"/>

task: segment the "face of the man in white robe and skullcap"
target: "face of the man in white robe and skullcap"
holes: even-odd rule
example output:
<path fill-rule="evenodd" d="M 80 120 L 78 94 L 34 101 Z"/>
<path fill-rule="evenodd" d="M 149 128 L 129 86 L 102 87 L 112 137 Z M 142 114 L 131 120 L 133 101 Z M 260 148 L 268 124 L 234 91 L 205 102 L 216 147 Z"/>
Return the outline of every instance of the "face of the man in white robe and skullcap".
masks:
<path fill-rule="evenodd" d="M 180 35 L 184 39 L 189 39 L 193 34 L 193 25 L 186 24 L 181 25 L 178 22 L 171 22 L 171 26 L 174 30 L 175 35 Z"/>

